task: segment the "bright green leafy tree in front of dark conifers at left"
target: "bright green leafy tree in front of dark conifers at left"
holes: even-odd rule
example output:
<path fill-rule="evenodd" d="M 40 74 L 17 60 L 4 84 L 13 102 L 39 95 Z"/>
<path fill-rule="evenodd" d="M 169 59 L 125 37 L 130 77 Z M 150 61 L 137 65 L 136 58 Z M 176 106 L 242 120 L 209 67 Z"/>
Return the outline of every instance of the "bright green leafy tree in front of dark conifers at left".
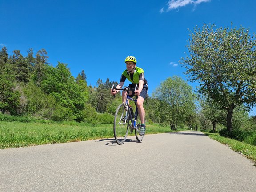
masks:
<path fill-rule="evenodd" d="M 80 110 L 84 109 L 85 95 L 67 64 L 59 62 L 55 68 L 47 66 L 41 88 L 44 93 L 54 96 L 60 104 L 56 120 L 75 120 Z"/>

